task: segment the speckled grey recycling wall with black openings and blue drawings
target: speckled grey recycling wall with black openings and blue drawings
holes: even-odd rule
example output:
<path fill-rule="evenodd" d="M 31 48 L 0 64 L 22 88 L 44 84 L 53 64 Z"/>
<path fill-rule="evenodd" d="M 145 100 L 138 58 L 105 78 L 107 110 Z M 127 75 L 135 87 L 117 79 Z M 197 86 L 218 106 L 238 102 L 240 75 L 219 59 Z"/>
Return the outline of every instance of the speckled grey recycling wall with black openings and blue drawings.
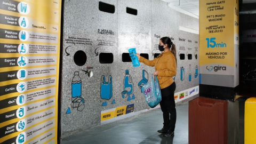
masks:
<path fill-rule="evenodd" d="M 175 101 L 197 97 L 199 36 L 179 27 L 198 30 L 198 19 L 158 0 L 73 0 L 63 11 L 62 138 L 149 109 L 140 87 L 151 81 L 154 67 L 124 61 L 133 47 L 153 60 L 164 36 L 177 49 Z"/>

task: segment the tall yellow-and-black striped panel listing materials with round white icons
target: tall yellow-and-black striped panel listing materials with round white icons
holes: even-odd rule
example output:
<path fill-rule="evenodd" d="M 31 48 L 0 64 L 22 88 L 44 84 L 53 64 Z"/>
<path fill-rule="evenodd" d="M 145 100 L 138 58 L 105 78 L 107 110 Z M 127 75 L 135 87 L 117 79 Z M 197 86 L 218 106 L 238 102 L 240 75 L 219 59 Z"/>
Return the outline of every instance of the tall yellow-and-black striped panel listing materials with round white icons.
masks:
<path fill-rule="evenodd" d="M 57 143 L 60 0 L 0 0 L 0 143 Z"/>

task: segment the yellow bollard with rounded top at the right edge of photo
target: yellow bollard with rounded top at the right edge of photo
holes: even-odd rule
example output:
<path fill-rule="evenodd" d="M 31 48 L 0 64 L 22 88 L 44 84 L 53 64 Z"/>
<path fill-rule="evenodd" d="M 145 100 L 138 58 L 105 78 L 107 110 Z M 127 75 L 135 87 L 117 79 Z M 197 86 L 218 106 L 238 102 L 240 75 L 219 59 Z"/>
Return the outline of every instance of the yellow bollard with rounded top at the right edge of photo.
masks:
<path fill-rule="evenodd" d="M 256 143 L 256 98 L 245 101 L 244 111 L 244 143 Z"/>

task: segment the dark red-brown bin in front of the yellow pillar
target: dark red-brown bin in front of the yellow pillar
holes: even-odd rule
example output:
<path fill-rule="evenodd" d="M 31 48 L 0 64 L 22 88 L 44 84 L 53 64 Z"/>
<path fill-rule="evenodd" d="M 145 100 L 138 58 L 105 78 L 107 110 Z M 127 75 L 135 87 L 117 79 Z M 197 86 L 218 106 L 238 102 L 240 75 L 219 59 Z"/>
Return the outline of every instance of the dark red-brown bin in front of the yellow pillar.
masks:
<path fill-rule="evenodd" d="M 227 144 L 228 101 L 198 97 L 189 101 L 189 144 Z"/>

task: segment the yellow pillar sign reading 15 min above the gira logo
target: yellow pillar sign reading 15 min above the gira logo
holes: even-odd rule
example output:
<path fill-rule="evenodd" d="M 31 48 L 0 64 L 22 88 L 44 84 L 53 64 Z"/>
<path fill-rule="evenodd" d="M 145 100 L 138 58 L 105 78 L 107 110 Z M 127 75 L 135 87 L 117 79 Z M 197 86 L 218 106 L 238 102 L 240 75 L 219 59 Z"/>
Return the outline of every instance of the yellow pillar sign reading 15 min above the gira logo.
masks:
<path fill-rule="evenodd" d="M 238 1 L 199 1 L 200 74 L 235 75 Z"/>

